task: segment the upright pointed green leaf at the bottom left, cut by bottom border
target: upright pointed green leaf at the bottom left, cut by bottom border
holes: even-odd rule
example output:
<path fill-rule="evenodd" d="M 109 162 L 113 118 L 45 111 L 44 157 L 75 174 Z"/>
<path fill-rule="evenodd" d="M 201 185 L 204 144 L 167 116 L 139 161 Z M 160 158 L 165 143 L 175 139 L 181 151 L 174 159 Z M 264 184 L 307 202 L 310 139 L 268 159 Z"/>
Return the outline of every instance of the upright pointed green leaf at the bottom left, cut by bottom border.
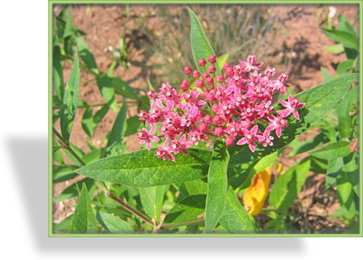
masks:
<path fill-rule="evenodd" d="M 71 233 L 96 233 L 96 231 L 97 222 L 93 215 L 91 201 L 89 199 L 86 184 L 84 183 L 76 210 L 73 214 Z"/>

